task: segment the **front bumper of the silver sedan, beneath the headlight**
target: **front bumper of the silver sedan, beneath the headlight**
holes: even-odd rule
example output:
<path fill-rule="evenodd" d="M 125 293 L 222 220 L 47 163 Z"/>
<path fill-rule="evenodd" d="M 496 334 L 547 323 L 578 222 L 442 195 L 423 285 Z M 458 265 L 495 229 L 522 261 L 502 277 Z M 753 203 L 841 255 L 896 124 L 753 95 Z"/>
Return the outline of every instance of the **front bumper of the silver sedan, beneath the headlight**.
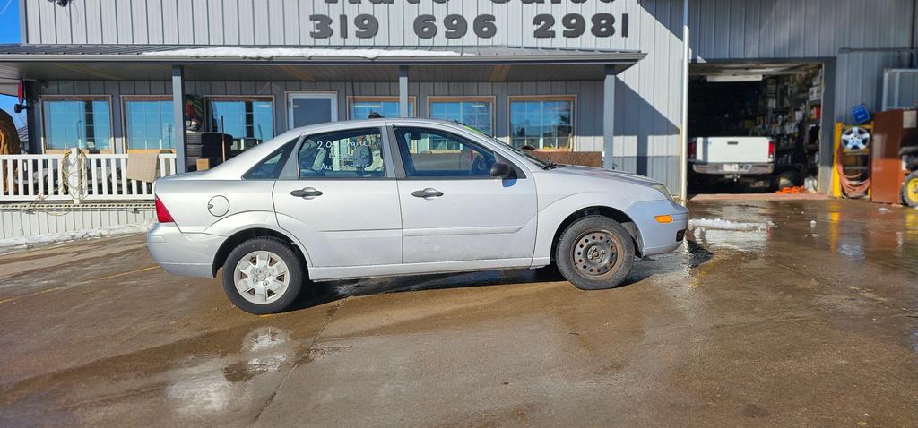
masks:
<path fill-rule="evenodd" d="M 628 214 L 641 232 L 642 256 L 655 256 L 678 248 L 689 228 L 689 209 L 669 201 L 635 203 Z M 659 223 L 654 218 L 657 215 L 669 215 L 673 221 Z"/>

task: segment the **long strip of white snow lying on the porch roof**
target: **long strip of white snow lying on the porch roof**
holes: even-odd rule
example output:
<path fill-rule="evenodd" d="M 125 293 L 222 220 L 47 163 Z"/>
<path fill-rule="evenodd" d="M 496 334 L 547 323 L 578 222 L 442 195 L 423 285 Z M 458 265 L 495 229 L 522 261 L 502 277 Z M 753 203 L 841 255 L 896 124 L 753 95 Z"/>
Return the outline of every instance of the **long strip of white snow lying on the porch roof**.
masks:
<path fill-rule="evenodd" d="M 191 48 L 152 50 L 140 55 L 162 57 L 214 58 L 233 57 L 246 60 L 271 60 L 273 58 L 377 58 L 397 57 L 456 57 L 471 55 L 453 50 L 422 49 L 315 49 L 315 48 Z"/>

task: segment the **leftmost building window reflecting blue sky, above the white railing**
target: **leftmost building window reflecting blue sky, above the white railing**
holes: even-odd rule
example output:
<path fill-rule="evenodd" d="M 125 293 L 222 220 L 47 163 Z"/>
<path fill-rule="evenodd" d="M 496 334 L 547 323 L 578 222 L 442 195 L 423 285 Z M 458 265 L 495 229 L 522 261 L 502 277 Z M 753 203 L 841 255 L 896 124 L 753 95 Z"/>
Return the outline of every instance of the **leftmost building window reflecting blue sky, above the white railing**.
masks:
<path fill-rule="evenodd" d="M 45 149 L 111 150 L 111 113 L 107 97 L 42 100 Z"/>

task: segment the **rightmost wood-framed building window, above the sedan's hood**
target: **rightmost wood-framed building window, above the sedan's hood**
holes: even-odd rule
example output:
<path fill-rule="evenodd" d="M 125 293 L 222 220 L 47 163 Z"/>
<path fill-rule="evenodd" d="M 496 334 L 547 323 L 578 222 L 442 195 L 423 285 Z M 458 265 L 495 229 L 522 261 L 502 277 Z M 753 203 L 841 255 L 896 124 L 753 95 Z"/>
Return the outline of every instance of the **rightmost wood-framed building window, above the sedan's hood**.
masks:
<path fill-rule="evenodd" d="M 570 149 L 574 102 L 573 96 L 510 97 L 510 142 L 517 148 Z"/>

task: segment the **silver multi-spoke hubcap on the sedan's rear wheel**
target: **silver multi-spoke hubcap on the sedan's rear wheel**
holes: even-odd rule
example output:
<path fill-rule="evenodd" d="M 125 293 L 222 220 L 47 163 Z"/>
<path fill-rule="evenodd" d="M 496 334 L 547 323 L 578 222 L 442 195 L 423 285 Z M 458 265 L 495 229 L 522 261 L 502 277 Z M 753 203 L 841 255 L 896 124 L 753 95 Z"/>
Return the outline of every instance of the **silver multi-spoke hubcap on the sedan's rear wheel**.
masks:
<path fill-rule="evenodd" d="M 284 296 L 290 286 L 290 269 L 271 251 L 252 251 L 236 264 L 236 291 L 248 302 L 268 304 Z"/>

